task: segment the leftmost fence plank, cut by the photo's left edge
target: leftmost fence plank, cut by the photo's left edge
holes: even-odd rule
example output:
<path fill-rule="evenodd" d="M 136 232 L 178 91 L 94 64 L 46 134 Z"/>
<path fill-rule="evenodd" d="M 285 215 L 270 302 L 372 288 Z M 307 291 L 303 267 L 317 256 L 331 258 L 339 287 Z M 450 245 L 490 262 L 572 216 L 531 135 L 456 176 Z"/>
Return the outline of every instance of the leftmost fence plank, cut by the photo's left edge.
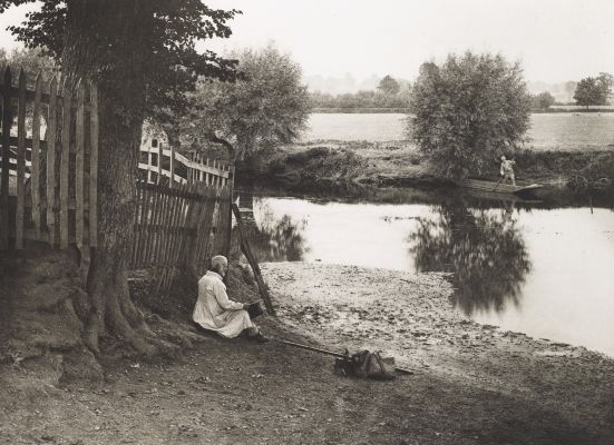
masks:
<path fill-rule="evenodd" d="M 2 87 L 2 177 L 0 179 L 0 249 L 9 247 L 9 169 L 11 154 L 11 81 L 10 67 L 4 70 Z"/>

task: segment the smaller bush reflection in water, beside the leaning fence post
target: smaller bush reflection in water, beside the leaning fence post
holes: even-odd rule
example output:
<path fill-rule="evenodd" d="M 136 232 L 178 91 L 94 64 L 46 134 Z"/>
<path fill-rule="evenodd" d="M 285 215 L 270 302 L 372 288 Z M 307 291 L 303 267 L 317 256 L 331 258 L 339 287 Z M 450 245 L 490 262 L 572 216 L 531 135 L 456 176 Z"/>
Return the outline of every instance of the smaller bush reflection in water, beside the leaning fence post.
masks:
<path fill-rule="evenodd" d="M 260 215 L 245 218 L 252 250 L 259 261 L 301 261 L 310 251 L 303 236 L 306 219 L 295 221 L 290 215 L 277 217 L 266 202 L 253 202 Z"/>

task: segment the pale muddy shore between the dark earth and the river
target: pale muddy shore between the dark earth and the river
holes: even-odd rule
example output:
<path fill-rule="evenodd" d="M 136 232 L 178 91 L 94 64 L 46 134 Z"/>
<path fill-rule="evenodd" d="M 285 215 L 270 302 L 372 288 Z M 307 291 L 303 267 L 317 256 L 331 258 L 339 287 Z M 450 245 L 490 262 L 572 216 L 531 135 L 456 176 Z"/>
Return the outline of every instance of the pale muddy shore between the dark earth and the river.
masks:
<path fill-rule="evenodd" d="M 315 344 L 381 349 L 399 366 L 515 394 L 588 431 L 608 422 L 613 357 L 468 319 L 452 307 L 447 274 L 301 261 L 262 270 L 280 323 Z"/>

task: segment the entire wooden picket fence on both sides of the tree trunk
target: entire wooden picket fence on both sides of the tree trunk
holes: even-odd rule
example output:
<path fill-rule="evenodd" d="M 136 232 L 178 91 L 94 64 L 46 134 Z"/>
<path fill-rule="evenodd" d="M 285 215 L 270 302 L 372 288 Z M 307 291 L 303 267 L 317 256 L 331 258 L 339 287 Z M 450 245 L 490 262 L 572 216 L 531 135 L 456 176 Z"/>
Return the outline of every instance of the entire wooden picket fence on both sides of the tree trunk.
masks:
<path fill-rule="evenodd" d="M 96 86 L 70 91 L 57 78 L 29 82 L 22 70 L 13 86 L 7 68 L 0 95 L 0 249 L 27 239 L 97 246 Z M 157 268 L 167 288 L 181 268 L 204 274 L 212 256 L 227 255 L 234 168 L 162 145 L 140 150 L 130 268 Z"/>

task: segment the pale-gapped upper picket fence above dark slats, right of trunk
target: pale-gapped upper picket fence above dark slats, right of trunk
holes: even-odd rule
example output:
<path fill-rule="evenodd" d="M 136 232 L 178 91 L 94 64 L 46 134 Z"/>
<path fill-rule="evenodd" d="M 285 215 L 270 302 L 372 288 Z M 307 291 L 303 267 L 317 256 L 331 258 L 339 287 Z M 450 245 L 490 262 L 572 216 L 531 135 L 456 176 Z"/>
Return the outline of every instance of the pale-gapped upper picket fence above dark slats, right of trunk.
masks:
<path fill-rule="evenodd" d="M 177 184 L 201 182 L 213 187 L 233 184 L 233 166 L 197 152 L 185 157 L 177 154 L 173 146 L 164 148 L 163 142 L 155 138 L 140 145 L 140 155 L 138 168 L 144 174 L 142 177 L 150 184 L 168 182 L 172 188 Z"/>

